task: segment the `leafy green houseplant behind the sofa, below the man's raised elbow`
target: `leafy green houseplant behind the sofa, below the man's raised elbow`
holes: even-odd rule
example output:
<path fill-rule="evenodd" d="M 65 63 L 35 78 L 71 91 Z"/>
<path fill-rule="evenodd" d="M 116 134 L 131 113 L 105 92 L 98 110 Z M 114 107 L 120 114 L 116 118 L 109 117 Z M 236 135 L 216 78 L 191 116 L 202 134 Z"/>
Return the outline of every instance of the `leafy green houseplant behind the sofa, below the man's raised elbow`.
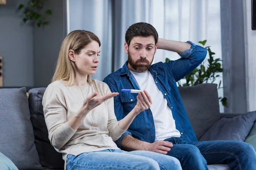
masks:
<path fill-rule="evenodd" d="M 199 41 L 200 44 L 203 46 L 206 44 L 207 40 Z M 207 59 L 208 65 L 207 67 L 204 66 L 204 62 L 201 63 L 201 65 L 198 66 L 194 71 L 192 71 L 190 74 L 188 74 L 183 79 L 186 80 L 183 84 L 181 84 L 180 81 L 178 81 L 179 86 L 192 86 L 192 85 L 198 85 L 202 83 L 213 83 L 215 82 L 217 77 L 220 77 L 219 73 L 222 72 L 221 68 L 221 62 L 222 60 L 220 58 L 214 58 L 213 56 L 215 53 L 212 52 L 210 49 L 211 46 L 204 47 L 207 49 L 209 58 Z M 166 58 L 166 62 L 169 61 L 169 58 Z M 221 81 L 218 84 L 218 89 L 221 87 Z M 226 97 L 219 97 L 221 103 L 223 106 L 227 107 L 227 98 Z"/>

